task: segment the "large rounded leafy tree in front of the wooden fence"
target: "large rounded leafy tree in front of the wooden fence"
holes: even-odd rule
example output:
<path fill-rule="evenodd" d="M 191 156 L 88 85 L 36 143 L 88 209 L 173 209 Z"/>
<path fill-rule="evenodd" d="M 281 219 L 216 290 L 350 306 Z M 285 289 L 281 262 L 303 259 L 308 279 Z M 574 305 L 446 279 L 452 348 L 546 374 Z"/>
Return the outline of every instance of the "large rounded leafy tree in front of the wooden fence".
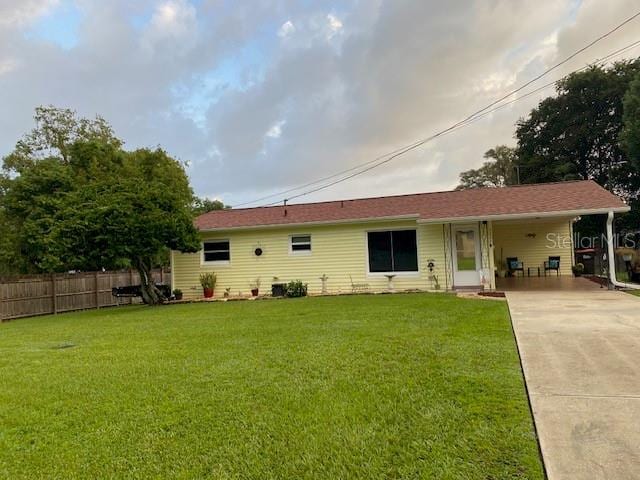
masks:
<path fill-rule="evenodd" d="M 59 116 L 50 118 L 46 131 L 67 128 L 67 116 L 62 124 Z M 48 156 L 16 148 L 5 159 L 11 173 L 3 180 L 0 214 L 10 219 L 14 240 L 5 248 L 18 251 L 32 271 L 133 267 L 144 301 L 161 302 L 152 267 L 167 249 L 199 249 L 183 165 L 161 149 L 124 151 L 102 135 L 65 138 Z M 13 163 L 16 158 L 22 161 Z"/>

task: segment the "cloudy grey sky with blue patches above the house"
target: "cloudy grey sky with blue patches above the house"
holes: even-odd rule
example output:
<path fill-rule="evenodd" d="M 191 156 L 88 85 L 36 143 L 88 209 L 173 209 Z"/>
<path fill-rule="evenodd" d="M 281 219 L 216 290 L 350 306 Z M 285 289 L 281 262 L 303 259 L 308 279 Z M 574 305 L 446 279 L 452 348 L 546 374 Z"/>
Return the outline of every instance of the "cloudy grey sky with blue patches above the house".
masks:
<path fill-rule="evenodd" d="M 0 156 L 33 128 L 35 107 L 71 108 L 104 117 L 128 149 L 161 146 L 185 162 L 199 196 L 239 205 L 426 138 L 636 10 L 637 0 L 0 0 Z M 639 39 L 636 19 L 531 89 Z M 454 188 L 486 150 L 515 145 L 515 123 L 551 94 L 295 201 Z"/>

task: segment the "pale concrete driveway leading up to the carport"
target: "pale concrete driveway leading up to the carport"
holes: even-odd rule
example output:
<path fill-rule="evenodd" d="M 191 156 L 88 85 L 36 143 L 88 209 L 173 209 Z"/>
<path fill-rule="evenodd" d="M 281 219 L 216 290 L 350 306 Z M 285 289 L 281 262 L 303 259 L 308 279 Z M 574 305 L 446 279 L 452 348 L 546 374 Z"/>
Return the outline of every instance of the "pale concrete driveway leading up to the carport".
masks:
<path fill-rule="evenodd" d="M 507 300 L 549 478 L 640 479 L 640 297 Z"/>

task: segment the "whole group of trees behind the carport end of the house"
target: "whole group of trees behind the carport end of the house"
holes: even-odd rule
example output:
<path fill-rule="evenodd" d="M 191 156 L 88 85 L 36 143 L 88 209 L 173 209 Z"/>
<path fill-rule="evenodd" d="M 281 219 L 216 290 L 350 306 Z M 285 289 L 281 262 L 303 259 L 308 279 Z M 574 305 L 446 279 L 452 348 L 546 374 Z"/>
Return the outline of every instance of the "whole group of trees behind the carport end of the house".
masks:
<path fill-rule="evenodd" d="M 480 168 L 462 172 L 458 188 L 593 179 L 631 205 L 618 226 L 640 228 L 640 59 L 560 80 L 518 121 L 515 138 L 515 148 L 492 148 Z M 585 219 L 583 230 L 601 222 Z"/>

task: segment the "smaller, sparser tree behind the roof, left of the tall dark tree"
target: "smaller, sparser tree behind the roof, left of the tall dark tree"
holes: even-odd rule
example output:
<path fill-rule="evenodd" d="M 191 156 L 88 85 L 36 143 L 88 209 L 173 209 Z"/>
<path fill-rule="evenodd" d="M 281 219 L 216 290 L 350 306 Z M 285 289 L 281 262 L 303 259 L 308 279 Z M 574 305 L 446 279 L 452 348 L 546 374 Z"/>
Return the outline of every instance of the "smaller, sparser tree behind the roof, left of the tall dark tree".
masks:
<path fill-rule="evenodd" d="M 458 190 L 479 187 L 504 187 L 517 183 L 517 154 L 515 148 L 498 145 L 484 154 L 487 160 L 480 168 L 460 174 Z"/>

